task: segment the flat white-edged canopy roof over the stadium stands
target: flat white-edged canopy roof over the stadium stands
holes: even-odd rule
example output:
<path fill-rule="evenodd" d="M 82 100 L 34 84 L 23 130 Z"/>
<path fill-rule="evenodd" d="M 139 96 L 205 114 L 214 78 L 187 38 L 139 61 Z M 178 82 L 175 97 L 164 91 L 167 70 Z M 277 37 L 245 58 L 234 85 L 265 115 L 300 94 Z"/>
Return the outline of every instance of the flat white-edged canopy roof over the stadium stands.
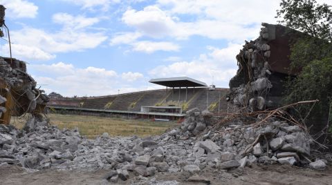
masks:
<path fill-rule="evenodd" d="M 170 88 L 207 86 L 204 82 L 192 79 L 190 77 L 151 79 L 149 82 Z"/>

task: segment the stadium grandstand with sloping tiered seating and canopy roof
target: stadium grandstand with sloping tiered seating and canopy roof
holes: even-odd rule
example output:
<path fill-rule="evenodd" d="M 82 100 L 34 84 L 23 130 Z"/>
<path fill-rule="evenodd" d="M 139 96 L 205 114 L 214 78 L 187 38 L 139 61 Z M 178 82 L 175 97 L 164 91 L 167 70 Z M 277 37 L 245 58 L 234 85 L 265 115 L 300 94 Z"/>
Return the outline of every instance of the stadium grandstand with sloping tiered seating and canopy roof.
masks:
<path fill-rule="evenodd" d="M 207 86 L 189 77 L 151 79 L 153 84 L 165 86 L 101 97 L 51 97 L 48 108 L 53 111 L 84 115 L 141 117 L 147 119 L 181 119 L 191 108 L 225 113 L 228 88 Z"/>

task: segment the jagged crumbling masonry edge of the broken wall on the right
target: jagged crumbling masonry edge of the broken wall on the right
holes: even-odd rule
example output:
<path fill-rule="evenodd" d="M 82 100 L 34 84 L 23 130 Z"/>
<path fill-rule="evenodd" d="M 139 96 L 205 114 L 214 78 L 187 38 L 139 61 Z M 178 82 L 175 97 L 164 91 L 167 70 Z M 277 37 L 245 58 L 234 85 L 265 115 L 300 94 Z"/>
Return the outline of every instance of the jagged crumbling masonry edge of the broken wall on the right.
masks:
<path fill-rule="evenodd" d="M 282 88 L 279 87 L 281 80 L 277 79 L 278 75 L 275 75 L 277 73 L 275 70 L 278 70 L 279 67 L 272 68 L 270 66 L 270 64 L 276 65 L 276 63 L 280 63 L 279 66 L 285 65 L 284 61 L 279 61 L 283 59 L 277 56 L 282 50 L 275 49 L 274 58 L 270 59 L 273 53 L 269 44 L 279 43 L 279 47 L 281 47 L 282 41 L 285 39 L 279 38 L 283 37 L 282 34 L 276 34 L 276 29 L 280 26 L 268 23 L 262 23 L 262 26 L 259 37 L 254 41 L 246 41 L 243 49 L 237 55 L 239 70 L 237 70 L 237 75 L 230 80 L 230 101 L 232 104 L 237 107 L 248 106 L 253 111 L 278 105 L 279 98 L 268 95 L 273 86 L 278 86 L 273 88 L 273 93 L 276 96 L 282 94 L 282 89 L 279 89 Z M 276 39 L 276 37 L 278 38 Z M 273 42 L 275 39 L 277 41 Z M 271 82 L 271 77 L 273 77 L 273 82 Z"/>

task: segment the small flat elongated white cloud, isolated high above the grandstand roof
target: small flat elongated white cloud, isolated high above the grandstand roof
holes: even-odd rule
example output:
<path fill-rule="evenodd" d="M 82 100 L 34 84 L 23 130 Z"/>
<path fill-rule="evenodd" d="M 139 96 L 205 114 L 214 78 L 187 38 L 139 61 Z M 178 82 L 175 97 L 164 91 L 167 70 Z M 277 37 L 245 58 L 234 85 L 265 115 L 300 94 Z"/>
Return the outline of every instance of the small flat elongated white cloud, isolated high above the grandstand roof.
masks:
<path fill-rule="evenodd" d="M 152 53 L 158 50 L 178 51 L 180 46 L 171 42 L 153 42 L 153 41 L 137 41 L 132 44 L 134 51 Z"/>

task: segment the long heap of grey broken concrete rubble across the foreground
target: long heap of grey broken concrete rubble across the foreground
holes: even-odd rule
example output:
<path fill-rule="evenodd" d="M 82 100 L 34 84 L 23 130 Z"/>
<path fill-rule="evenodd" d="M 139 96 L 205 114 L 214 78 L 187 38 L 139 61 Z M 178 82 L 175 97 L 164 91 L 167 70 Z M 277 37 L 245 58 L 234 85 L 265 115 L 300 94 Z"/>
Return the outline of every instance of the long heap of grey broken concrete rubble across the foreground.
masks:
<path fill-rule="evenodd" d="M 212 130 L 208 124 L 201 133 L 192 132 L 206 122 L 203 115 L 199 109 L 190 110 L 181 128 L 147 138 L 109 137 L 104 133 L 86 139 L 77 129 L 59 130 L 35 119 L 27 121 L 22 130 L 0 125 L 0 165 L 17 164 L 36 170 L 108 169 L 104 179 L 109 182 L 157 173 L 194 175 L 205 169 L 229 170 L 255 164 L 326 168 L 324 159 L 309 161 L 311 139 L 299 126 L 273 119 L 257 127 L 234 121 L 219 132 L 208 132 Z M 194 128 L 188 129 L 190 126 Z"/>

